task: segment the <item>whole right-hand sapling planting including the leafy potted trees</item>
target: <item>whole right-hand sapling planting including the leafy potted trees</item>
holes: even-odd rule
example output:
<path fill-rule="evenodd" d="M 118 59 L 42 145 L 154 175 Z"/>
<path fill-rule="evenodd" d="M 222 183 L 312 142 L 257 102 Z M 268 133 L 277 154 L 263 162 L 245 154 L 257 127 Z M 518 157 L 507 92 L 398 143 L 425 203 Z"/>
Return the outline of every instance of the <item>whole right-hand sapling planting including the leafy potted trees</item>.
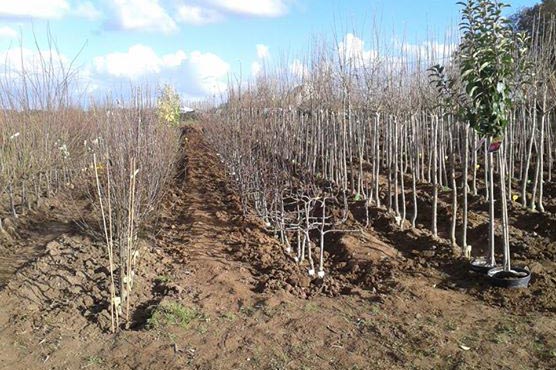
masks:
<path fill-rule="evenodd" d="M 318 248 L 324 276 L 325 235 L 351 231 L 340 225 L 353 201 L 365 203 L 367 224 L 373 205 L 392 212 L 400 228 L 416 227 L 417 188 L 429 184 L 424 219 L 436 237 L 439 192 L 449 192 L 449 238 L 471 257 L 468 196 L 484 197 L 490 251 L 477 263 L 496 266 L 496 211 L 506 270 L 509 205 L 554 211 L 545 208 L 556 156 L 554 29 L 515 34 L 500 16 L 503 5 L 487 3 L 465 5 L 453 55 L 368 59 L 322 45 L 301 76 L 267 72 L 254 85 L 230 87 L 227 104 L 206 123 L 245 209 L 295 250 L 297 263 L 308 259 L 309 274 Z M 492 52 L 495 44 L 506 46 Z M 447 66 L 429 68 L 439 59 Z"/>

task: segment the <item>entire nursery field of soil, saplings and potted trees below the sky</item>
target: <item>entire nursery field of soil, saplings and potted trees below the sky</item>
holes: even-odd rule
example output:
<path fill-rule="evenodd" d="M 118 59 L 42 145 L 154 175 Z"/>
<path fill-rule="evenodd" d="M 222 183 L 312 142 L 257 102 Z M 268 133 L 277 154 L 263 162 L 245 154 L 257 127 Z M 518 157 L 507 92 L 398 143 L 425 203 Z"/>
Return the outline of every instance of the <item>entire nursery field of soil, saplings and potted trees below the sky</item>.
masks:
<path fill-rule="evenodd" d="M 323 40 L 196 110 L 22 48 L 0 369 L 556 369 L 556 21 L 458 4 L 457 46 Z"/>

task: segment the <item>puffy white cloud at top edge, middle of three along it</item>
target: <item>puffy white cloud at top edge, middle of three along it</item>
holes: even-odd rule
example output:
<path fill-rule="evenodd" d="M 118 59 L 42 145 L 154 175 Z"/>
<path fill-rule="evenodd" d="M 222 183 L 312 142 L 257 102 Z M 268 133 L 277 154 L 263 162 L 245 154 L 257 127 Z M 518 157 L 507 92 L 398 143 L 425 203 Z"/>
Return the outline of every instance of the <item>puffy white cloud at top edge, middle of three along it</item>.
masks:
<path fill-rule="evenodd" d="M 109 26 L 127 31 L 171 33 L 176 22 L 158 0 L 113 0 L 115 19 Z"/>

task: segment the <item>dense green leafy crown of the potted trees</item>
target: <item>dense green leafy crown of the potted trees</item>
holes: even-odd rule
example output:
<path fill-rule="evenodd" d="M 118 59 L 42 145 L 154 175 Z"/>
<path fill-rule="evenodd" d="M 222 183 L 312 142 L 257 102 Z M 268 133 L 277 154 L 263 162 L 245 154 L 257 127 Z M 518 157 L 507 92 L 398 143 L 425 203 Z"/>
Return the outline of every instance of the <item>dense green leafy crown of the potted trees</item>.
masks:
<path fill-rule="evenodd" d="M 516 33 L 502 15 L 506 4 L 496 0 L 467 0 L 460 29 L 463 37 L 455 55 L 459 72 L 449 76 L 445 67 L 429 69 L 439 98 L 458 118 L 481 136 L 500 137 L 509 113 L 525 83 L 528 36 Z"/>

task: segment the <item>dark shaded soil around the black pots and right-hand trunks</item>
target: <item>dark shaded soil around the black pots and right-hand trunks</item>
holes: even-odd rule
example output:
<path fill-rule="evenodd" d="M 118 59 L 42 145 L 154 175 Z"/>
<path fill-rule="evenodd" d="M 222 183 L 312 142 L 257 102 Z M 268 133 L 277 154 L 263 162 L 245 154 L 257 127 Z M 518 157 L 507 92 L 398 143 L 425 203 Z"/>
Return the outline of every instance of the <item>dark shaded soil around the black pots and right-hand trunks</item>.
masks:
<path fill-rule="evenodd" d="M 480 182 L 480 181 L 479 181 Z M 407 219 L 412 218 L 413 196 L 411 178 L 406 181 L 405 199 L 407 201 Z M 546 186 L 552 189 L 552 184 Z M 552 204 L 550 191 L 545 194 L 545 204 Z M 499 194 L 496 193 L 498 197 Z M 381 188 L 382 204 L 387 204 L 386 184 Z M 432 279 L 442 277 L 439 287 L 471 294 L 493 307 L 506 307 L 514 312 L 530 311 L 556 313 L 556 215 L 549 212 L 532 212 L 519 203 L 509 204 L 510 249 L 512 265 L 525 267 L 532 272 L 529 289 L 505 290 L 491 287 L 481 274 L 469 272 L 469 262 L 457 258 L 461 254 L 459 246 L 452 247 L 450 241 L 452 222 L 452 193 L 439 191 L 438 199 L 438 235 L 433 236 L 432 224 L 432 185 L 417 184 L 418 213 L 416 228 L 405 221 L 404 227 L 396 222 L 395 215 L 385 207 L 371 206 L 370 228 L 376 236 L 389 245 L 393 245 L 407 259 L 402 269 L 408 273 L 418 273 Z M 458 204 L 463 203 L 461 189 Z M 402 207 L 400 195 L 400 211 Z M 519 199 L 518 199 L 519 201 Z M 500 227 L 500 202 L 495 207 L 495 245 L 498 263 L 502 256 L 502 230 Z M 481 195 L 469 194 L 469 217 L 467 243 L 472 246 L 474 257 L 485 256 L 488 248 L 488 201 Z M 547 208 L 547 207 L 545 207 Z M 364 202 L 351 205 L 353 219 L 359 224 L 365 223 Z M 456 219 L 456 240 L 461 245 L 463 230 L 462 211 L 459 209 Z"/>

